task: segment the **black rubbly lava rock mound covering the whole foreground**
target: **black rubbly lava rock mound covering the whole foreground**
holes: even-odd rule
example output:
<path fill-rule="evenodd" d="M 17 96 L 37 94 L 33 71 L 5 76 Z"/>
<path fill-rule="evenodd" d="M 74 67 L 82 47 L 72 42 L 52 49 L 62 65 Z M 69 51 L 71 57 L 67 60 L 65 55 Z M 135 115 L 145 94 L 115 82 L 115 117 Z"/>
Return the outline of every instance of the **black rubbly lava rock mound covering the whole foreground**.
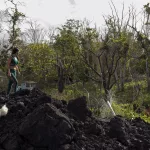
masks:
<path fill-rule="evenodd" d="M 86 97 L 55 100 L 38 89 L 5 97 L 0 150 L 150 150 L 150 124 L 140 118 L 93 117 Z"/>

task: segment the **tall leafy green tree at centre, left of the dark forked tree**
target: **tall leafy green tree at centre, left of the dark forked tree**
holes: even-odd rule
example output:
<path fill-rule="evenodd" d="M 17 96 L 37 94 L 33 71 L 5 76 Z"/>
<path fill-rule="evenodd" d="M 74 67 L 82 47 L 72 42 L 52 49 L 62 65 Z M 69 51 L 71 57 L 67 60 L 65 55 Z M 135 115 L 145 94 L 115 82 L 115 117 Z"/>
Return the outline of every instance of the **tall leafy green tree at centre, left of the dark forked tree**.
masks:
<path fill-rule="evenodd" d="M 60 33 L 55 38 L 54 49 L 57 53 L 57 60 L 61 61 L 64 77 L 85 80 L 84 73 L 87 68 L 81 60 L 79 28 L 79 21 L 67 20 L 65 25 L 59 28 Z M 60 64 L 57 65 L 60 67 Z"/>

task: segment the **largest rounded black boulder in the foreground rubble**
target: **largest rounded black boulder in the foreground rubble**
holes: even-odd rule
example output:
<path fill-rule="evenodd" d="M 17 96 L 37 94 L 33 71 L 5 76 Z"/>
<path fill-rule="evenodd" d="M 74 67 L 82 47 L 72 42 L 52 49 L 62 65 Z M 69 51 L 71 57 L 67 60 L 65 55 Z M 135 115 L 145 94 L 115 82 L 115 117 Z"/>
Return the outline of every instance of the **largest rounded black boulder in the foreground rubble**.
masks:
<path fill-rule="evenodd" d="M 19 127 L 19 134 L 39 148 L 71 142 L 73 133 L 69 118 L 48 103 L 36 108 Z"/>

